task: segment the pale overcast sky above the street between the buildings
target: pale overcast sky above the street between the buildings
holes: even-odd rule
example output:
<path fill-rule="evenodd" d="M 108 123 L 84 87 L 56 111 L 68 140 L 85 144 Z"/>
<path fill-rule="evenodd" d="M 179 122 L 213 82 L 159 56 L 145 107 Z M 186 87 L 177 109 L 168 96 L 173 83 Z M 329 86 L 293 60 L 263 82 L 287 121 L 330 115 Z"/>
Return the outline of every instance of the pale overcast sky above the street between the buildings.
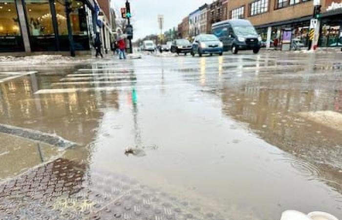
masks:
<path fill-rule="evenodd" d="M 112 7 L 125 7 L 126 0 L 112 0 Z M 213 0 L 129 0 L 134 25 L 134 40 L 159 33 L 157 15 L 164 15 L 164 31 L 177 26 L 182 19 L 204 3 Z M 119 11 L 119 10 L 116 10 Z M 117 16 L 121 16 L 117 15 Z"/>

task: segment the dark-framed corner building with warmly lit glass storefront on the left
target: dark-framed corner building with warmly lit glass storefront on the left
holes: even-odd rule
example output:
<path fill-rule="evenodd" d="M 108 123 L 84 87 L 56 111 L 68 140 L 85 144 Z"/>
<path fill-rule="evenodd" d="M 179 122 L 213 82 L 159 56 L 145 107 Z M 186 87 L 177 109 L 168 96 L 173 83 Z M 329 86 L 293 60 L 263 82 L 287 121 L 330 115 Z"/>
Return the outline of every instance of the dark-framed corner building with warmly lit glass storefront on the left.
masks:
<path fill-rule="evenodd" d="M 76 51 L 90 51 L 100 10 L 94 0 L 0 0 L 0 52 L 69 51 L 69 32 Z"/>

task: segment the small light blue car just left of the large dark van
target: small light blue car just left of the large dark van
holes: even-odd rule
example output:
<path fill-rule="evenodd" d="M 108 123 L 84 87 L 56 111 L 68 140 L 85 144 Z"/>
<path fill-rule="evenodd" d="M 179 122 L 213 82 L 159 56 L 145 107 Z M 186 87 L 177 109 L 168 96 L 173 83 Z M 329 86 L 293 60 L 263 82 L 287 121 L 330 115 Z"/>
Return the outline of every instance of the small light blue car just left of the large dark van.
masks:
<path fill-rule="evenodd" d="M 195 37 L 192 43 L 192 56 L 198 54 L 200 57 L 202 54 L 218 54 L 222 56 L 223 44 L 214 34 L 200 34 Z"/>

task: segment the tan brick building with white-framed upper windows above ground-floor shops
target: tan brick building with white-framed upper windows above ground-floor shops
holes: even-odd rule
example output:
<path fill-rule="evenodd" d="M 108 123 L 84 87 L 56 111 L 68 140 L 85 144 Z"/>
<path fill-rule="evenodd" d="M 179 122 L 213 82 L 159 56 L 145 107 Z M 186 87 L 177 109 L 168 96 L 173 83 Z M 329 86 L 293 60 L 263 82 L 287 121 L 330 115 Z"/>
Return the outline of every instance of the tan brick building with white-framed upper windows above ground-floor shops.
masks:
<path fill-rule="evenodd" d="M 341 2 L 321 0 L 320 46 L 342 45 Z M 282 28 L 292 28 L 293 37 L 307 45 L 313 10 L 312 0 L 241 0 L 228 3 L 229 19 L 251 21 L 268 47 L 280 38 Z"/>

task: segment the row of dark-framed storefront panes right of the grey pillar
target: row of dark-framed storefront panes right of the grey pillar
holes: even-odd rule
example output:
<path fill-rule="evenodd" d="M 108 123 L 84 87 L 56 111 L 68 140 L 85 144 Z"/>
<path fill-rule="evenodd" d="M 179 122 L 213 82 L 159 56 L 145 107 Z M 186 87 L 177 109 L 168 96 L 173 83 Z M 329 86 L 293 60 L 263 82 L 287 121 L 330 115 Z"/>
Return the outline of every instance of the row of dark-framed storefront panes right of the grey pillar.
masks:
<path fill-rule="evenodd" d="M 24 0 L 32 51 L 55 51 L 56 39 L 49 0 Z M 69 39 L 64 0 L 54 0 L 59 49 L 68 51 Z M 72 0 L 70 22 L 75 50 L 89 50 L 85 3 Z"/>

